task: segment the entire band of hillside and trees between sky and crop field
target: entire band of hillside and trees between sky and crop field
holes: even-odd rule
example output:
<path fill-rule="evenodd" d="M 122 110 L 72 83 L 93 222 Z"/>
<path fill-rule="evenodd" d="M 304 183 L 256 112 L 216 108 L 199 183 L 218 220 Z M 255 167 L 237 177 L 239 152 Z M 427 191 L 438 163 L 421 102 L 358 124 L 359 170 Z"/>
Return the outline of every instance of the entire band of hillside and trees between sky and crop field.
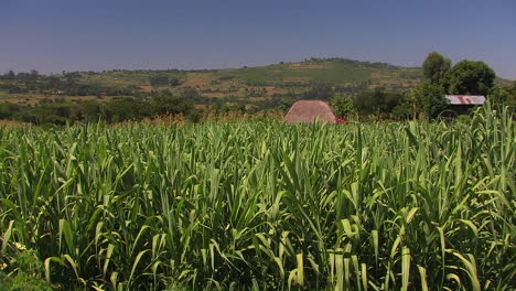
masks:
<path fill-rule="evenodd" d="M 437 118 L 448 107 L 444 94 L 482 94 L 514 107 L 510 86 L 497 84 L 505 85 L 495 86 L 495 74 L 484 63 L 462 61 L 452 67 L 436 52 L 422 73 L 345 58 L 219 71 L 9 72 L 0 76 L 0 119 L 65 125 L 179 114 L 197 121 L 228 111 L 284 112 L 299 99 L 345 104 L 334 109 L 346 119 Z"/>

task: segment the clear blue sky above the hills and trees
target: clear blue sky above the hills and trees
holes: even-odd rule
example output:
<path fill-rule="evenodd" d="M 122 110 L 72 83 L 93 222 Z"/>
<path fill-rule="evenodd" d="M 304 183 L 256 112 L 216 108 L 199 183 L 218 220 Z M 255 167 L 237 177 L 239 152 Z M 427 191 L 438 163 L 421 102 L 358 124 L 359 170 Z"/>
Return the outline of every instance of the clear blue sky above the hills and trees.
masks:
<path fill-rule="evenodd" d="M 516 0 L 0 0 L 0 73 L 420 66 L 432 51 L 516 79 Z"/>

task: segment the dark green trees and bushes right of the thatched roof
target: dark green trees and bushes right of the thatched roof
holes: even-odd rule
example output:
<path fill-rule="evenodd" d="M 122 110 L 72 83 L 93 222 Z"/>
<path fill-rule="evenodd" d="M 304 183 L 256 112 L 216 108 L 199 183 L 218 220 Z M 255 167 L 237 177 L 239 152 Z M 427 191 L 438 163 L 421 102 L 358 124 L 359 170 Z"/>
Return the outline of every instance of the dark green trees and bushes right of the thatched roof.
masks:
<path fill-rule="evenodd" d="M 516 82 L 507 88 L 496 87 L 496 74 L 484 62 L 464 60 L 452 66 L 450 58 L 432 52 L 424 60 L 422 71 L 423 82 L 411 90 L 377 87 L 353 94 L 341 87 L 314 84 L 298 99 L 330 100 L 340 117 L 375 116 L 395 119 L 437 118 L 448 109 L 444 97 L 447 94 L 483 95 L 498 104 L 513 107 L 516 105 Z M 284 96 L 277 101 L 279 105 L 284 104 Z"/>

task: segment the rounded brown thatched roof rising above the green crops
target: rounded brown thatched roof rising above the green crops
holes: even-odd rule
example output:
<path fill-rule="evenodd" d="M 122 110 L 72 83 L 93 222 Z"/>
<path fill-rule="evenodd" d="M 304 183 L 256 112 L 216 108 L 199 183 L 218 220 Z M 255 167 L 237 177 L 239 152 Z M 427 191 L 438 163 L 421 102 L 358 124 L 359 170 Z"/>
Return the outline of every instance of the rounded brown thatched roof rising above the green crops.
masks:
<path fill-rule="evenodd" d="M 327 122 L 335 123 L 336 118 L 332 107 L 321 100 L 300 100 L 290 107 L 289 112 L 284 116 L 284 121 L 289 123 L 299 122 Z"/>

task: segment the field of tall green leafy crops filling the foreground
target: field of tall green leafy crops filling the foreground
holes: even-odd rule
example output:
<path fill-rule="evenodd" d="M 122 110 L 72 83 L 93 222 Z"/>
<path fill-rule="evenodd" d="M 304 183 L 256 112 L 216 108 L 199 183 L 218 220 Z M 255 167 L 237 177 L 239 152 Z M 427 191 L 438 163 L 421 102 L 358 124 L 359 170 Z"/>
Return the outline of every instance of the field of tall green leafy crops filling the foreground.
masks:
<path fill-rule="evenodd" d="M 0 270 L 61 290 L 515 290 L 515 131 L 490 109 L 3 128 Z"/>

